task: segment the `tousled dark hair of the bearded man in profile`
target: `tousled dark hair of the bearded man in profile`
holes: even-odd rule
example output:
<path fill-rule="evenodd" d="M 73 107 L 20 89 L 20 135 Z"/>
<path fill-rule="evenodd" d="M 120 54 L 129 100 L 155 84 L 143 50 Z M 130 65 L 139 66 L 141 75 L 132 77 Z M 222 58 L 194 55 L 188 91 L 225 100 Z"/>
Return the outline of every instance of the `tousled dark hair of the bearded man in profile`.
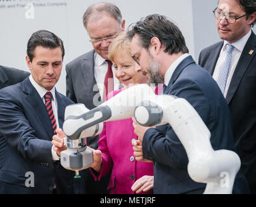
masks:
<path fill-rule="evenodd" d="M 145 49 L 151 45 L 151 38 L 157 37 L 165 47 L 164 52 L 169 54 L 188 53 L 181 30 L 166 16 L 152 14 L 142 17 L 140 21 L 129 26 L 127 38 L 131 40 L 136 34 L 140 38 L 140 45 Z"/>

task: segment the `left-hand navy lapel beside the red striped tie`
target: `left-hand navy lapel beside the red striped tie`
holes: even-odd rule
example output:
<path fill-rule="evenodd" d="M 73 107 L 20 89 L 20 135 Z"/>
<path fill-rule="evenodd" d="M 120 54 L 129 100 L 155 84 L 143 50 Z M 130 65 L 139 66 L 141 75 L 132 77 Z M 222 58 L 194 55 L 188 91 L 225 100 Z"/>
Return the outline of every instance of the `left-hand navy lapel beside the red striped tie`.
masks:
<path fill-rule="evenodd" d="M 51 125 L 49 115 L 45 108 L 44 102 L 42 101 L 36 89 L 33 87 L 29 78 L 26 78 L 23 81 L 23 93 L 27 94 L 26 99 L 31 104 L 31 110 L 33 110 L 38 115 L 38 120 L 41 122 L 38 123 L 38 125 L 42 125 L 44 127 L 45 131 L 47 132 L 48 139 L 52 140 L 53 126 Z"/>

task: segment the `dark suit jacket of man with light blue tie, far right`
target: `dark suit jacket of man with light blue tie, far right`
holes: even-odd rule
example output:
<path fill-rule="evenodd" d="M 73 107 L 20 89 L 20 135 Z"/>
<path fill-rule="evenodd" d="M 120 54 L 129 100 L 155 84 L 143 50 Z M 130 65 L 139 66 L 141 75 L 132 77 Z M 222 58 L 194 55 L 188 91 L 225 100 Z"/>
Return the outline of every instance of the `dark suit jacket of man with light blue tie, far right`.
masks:
<path fill-rule="evenodd" d="M 213 74 L 224 41 L 203 49 L 199 65 Z M 251 53 L 252 52 L 252 53 Z M 252 32 L 238 60 L 227 91 L 235 147 L 251 193 L 256 193 L 256 36 Z"/>

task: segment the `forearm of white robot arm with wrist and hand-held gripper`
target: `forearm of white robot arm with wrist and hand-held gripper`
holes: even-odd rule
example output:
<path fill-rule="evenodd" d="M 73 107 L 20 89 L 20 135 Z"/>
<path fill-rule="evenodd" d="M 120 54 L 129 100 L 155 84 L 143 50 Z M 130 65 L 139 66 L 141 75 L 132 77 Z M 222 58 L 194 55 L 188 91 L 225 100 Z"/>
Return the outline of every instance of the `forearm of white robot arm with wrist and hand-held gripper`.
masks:
<path fill-rule="evenodd" d="M 116 94 L 91 111 L 81 103 L 68 105 L 63 124 L 68 149 L 60 153 L 62 166 L 75 171 L 75 177 L 79 177 L 79 171 L 88 168 L 94 161 L 92 151 L 86 149 L 85 137 L 99 135 L 103 122 L 131 118 L 136 105 L 151 95 L 154 93 L 150 87 L 137 85 Z"/>

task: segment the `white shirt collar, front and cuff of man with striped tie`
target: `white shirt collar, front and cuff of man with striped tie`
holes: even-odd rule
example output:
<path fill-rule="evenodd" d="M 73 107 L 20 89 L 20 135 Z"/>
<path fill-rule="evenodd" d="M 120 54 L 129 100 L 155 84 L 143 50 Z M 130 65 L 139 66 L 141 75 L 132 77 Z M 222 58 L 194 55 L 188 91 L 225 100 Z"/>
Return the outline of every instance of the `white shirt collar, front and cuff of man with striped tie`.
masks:
<path fill-rule="evenodd" d="M 36 83 L 34 81 L 34 78 L 32 77 L 32 75 L 29 76 L 29 80 L 31 81 L 32 85 L 34 86 L 34 88 L 38 92 L 40 98 L 42 99 L 42 101 L 45 104 L 44 95 L 48 91 L 44 87 L 38 85 L 38 83 Z M 55 120 L 56 120 L 56 124 L 57 124 L 57 129 L 58 129 L 60 126 L 58 125 L 58 104 L 57 104 L 57 98 L 55 96 L 55 87 L 53 87 L 53 89 L 51 89 L 51 91 L 49 91 L 49 92 L 51 92 L 51 94 L 53 94 L 53 100 L 51 100 L 51 104 L 52 104 L 53 113 L 54 113 L 54 116 L 55 116 Z M 52 154 L 53 160 L 59 160 L 60 159 L 58 157 L 56 151 L 53 150 L 53 147 L 51 147 L 51 154 Z"/>

